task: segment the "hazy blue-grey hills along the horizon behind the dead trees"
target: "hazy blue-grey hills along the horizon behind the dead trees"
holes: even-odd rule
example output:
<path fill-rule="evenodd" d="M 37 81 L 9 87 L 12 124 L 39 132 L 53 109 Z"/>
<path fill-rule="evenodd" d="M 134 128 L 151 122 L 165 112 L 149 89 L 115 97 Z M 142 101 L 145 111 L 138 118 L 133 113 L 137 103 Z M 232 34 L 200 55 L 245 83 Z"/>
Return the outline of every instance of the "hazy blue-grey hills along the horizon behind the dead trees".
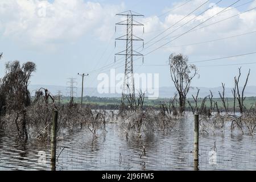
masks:
<path fill-rule="evenodd" d="M 47 88 L 53 95 L 57 94 L 58 90 L 61 91 L 63 96 L 67 96 L 67 88 L 65 86 L 57 86 L 57 85 L 30 85 L 29 89 L 32 95 L 35 94 L 35 90 L 39 88 Z M 222 87 L 216 88 L 205 88 L 200 87 L 200 94 L 199 97 L 205 97 L 209 95 L 209 90 L 212 90 L 213 97 L 218 98 L 218 91 L 222 92 Z M 225 88 L 225 96 L 226 97 L 233 97 L 232 88 Z M 174 87 L 160 87 L 159 88 L 159 97 L 160 98 L 170 98 L 173 97 L 176 92 Z M 188 97 L 192 97 L 192 94 L 196 94 L 196 88 L 191 88 L 188 93 Z M 77 97 L 81 96 L 81 88 L 77 88 Z M 96 96 L 96 97 L 121 97 L 121 94 L 100 94 L 97 92 L 97 88 L 84 88 L 84 96 Z M 256 96 L 256 86 L 247 86 L 245 89 L 245 96 L 246 97 L 253 97 Z"/>

